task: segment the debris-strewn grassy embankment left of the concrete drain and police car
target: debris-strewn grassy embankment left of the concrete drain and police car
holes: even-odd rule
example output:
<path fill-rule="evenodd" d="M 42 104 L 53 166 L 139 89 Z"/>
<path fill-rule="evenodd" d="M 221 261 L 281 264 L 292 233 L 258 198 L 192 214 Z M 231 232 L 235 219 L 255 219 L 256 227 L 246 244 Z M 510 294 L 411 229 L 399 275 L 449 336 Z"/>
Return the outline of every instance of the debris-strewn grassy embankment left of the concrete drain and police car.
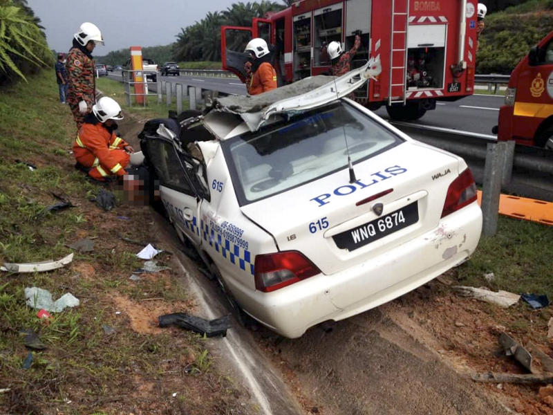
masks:
<path fill-rule="evenodd" d="M 93 252 L 75 251 L 73 262 L 58 270 L 0 273 L 0 389 L 6 389 L 0 412 L 234 412 L 232 396 L 239 394 L 212 367 L 205 340 L 156 327 L 158 315 L 194 313 L 194 299 L 178 275 L 129 279 L 143 264 L 135 257 L 141 246 L 119 235 L 162 248 L 154 212 L 124 204 L 104 212 L 91 203 L 100 187 L 73 168 L 68 150 L 74 138 L 52 71 L 0 91 L 0 264 L 59 259 L 73 252 L 67 244 L 83 237 L 95 243 Z M 54 193 L 75 207 L 45 212 L 59 202 Z M 171 266 L 169 255 L 156 259 Z M 72 293 L 80 305 L 39 320 L 24 297 L 32 286 L 48 289 L 54 299 Z M 46 346 L 32 351 L 30 369 L 22 367 L 29 350 L 21 329 L 35 331 Z"/>

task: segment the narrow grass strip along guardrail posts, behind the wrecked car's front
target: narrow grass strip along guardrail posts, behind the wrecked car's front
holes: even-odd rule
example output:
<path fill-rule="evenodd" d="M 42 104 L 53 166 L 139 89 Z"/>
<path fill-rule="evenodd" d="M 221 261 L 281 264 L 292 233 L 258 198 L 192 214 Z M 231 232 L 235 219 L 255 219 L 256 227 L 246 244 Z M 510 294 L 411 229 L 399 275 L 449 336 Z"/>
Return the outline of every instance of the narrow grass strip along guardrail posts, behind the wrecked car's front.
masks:
<path fill-rule="evenodd" d="M 160 104 L 158 104 L 157 95 L 151 95 L 147 97 L 145 106 L 142 104 L 136 104 L 133 101 L 131 107 L 129 107 L 129 105 L 126 104 L 124 85 L 122 84 L 122 82 L 111 80 L 108 77 L 101 77 L 96 80 L 96 87 L 97 89 L 102 91 L 105 96 L 109 96 L 119 102 L 121 108 L 124 109 L 124 111 L 131 113 L 134 116 L 139 116 L 143 119 L 167 117 L 167 113 L 169 110 L 176 111 L 175 96 L 172 97 L 173 100 L 171 102 L 171 105 L 169 106 L 167 106 L 165 95 L 163 95 L 163 99 Z M 182 102 L 182 110 L 185 109 L 188 109 L 188 102 L 186 99 Z"/>

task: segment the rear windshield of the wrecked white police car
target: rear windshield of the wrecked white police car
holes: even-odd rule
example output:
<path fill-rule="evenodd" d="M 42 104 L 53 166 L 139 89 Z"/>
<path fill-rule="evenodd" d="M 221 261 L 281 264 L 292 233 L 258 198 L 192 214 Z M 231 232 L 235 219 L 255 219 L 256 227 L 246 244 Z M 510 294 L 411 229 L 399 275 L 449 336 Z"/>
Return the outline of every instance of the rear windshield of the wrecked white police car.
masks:
<path fill-rule="evenodd" d="M 341 102 L 223 142 L 241 205 L 359 163 L 402 140 Z"/>

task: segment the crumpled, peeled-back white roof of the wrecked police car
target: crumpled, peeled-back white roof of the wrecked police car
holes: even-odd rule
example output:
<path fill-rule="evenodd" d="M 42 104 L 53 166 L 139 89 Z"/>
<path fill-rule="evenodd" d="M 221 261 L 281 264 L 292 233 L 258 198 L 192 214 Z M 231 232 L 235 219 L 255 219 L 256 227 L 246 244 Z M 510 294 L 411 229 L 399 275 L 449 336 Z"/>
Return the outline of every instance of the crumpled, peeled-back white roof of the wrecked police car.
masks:
<path fill-rule="evenodd" d="M 250 131 L 256 131 L 278 113 L 306 111 L 342 98 L 375 79 L 382 71 L 379 57 L 341 77 L 317 75 L 293 84 L 254 96 L 235 95 L 214 100 L 214 109 L 205 116 L 205 124 L 217 118 L 216 113 L 234 113 L 242 118 Z"/>

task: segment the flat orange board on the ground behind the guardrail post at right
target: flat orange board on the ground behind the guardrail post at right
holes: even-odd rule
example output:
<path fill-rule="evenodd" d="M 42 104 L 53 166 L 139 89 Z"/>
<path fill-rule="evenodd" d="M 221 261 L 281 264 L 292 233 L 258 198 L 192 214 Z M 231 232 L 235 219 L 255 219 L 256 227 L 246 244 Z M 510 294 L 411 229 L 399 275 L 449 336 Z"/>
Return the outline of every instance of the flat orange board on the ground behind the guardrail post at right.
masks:
<path fill-rule="evenodd" d="M 481 190 L 478 190 L 478 204 L 482 205 Z M 553 203 L 551 202 L 500 194 L 499 213 L 512 218 L 553 225 Z"/>

